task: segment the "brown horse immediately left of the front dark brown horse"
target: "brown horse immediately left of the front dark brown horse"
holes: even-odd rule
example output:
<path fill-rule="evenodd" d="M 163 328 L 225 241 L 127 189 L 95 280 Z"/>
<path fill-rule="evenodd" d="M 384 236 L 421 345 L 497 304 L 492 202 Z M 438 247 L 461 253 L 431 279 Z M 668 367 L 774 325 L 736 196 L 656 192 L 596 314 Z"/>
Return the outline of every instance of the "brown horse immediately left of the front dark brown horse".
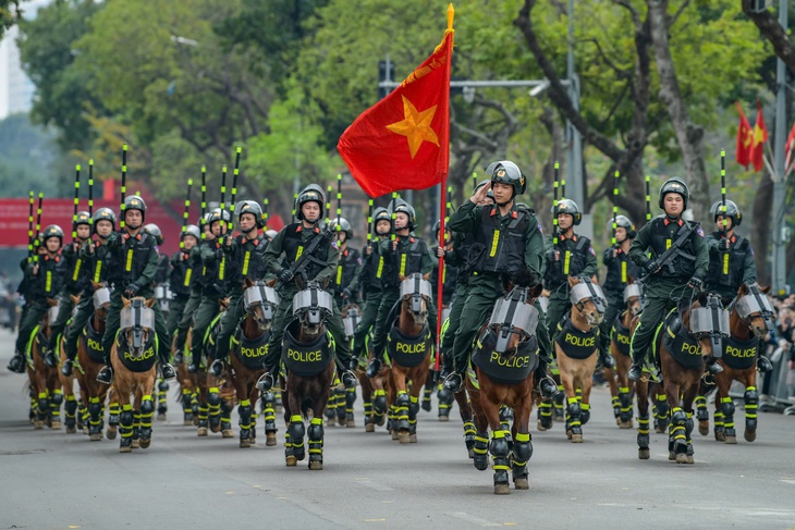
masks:
<path fill-rule="evenodd" d="M 276 308 L 279 306 L 279 295 L 265 284 L 245 280 L 243 305 L 245 317 L 232 335 L 230 355 L 231 381 L 237 394 L 237 415 L 240 416 L 240 446 L 250 447 L 256 432 L 253 423 L 253 404 L 259 398 L 257 380 L 265 373 L 262 358 L 268 354 L 270 326 L 273 322 Z M 276 412 L 272 406 L 265 409 L 265 445 L 277 444 Z"/>

